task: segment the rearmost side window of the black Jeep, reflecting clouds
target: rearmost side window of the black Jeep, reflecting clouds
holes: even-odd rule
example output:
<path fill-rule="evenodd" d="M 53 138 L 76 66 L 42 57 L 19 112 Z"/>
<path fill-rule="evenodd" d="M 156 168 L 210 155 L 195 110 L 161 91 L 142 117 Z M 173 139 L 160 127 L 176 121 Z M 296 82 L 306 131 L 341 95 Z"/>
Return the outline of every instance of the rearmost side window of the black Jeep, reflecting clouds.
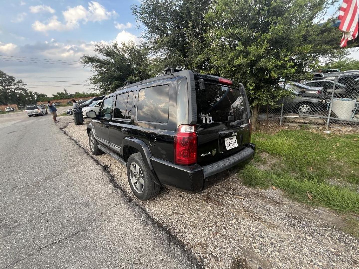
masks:
<path fill-rule="evenodd" d="M 141 89 L 138 96 L 137 120 L 168 122 L 168 85 Z"/>

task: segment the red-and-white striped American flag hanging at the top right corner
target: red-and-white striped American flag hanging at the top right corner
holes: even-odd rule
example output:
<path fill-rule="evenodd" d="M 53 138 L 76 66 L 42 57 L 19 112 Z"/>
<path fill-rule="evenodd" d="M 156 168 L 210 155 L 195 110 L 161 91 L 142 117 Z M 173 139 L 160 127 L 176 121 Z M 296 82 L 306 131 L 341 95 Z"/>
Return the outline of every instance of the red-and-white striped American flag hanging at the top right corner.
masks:
<path fill-rule="evenodd" d="M 340 47 L 345 47 L 348 40 L 358 36 L 358 4 L 356 0 L 343 0 L 338 19 L 341 20 L 339 29 L 343 31 Z"/>

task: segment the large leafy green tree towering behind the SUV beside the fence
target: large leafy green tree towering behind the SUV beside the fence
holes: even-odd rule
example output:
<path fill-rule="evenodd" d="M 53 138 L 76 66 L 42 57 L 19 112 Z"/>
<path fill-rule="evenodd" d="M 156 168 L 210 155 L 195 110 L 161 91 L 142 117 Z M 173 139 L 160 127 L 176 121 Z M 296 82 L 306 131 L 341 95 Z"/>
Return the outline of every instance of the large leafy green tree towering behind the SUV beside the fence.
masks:
<path fill-rule="evenodd" d="M 255 120 L 260 105 L 288 94 L 278 81 L 301 79 L 319 59 L 344 54 L 333 20 L 317 23 L 335 2 L 143 0 L 132 12 L 162 68 L 172 63 L 242 82 Z"/>

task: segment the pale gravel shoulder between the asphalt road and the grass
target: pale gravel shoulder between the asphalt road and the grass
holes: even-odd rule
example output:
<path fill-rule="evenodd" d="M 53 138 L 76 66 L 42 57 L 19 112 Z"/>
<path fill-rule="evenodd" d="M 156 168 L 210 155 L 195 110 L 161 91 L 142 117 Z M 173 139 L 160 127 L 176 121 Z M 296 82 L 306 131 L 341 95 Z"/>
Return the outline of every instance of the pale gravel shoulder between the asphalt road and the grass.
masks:
<path fill-rule="evenodd" d="M 59 127 L 91 155 L 86 124 Z M 248 188 L 237 176 L 199 194 L 163 188 L 143 202 L 132 194 L 124 166 L 106 154 L 92 157 L 206 268 L 359 268 L 358 238 L 341 231 L 344 219 L 327 209 L 294 202 L 278 189 Z"/>

